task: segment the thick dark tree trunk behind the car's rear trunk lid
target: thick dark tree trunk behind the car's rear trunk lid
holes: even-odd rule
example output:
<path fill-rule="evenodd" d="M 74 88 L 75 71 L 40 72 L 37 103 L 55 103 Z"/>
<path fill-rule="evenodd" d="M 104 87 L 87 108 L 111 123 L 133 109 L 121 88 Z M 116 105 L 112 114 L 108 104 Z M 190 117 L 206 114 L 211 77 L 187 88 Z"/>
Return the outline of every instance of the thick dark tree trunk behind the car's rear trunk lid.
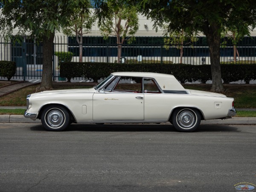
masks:
<path fill-rule="evenodd" d="M 207 37 L 209 44 L 209 53 L 211 61 L 211 72 L 212 72 L 212 92 L 223 93 L 224 87 L 221 79 L 221 64 L 220 64 L 220 45 L 221 45 L 221 34 L 220 26 L 217 23 L 206 25 L 204 34 Z"/>

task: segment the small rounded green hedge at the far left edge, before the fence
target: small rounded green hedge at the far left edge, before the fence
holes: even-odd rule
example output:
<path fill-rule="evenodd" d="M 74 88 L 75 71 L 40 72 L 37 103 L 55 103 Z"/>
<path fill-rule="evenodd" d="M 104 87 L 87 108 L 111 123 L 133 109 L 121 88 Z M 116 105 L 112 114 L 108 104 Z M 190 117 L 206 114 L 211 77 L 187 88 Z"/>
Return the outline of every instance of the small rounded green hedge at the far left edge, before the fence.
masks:
<path fill-rule="evenodd" d="M 13 61 L 0 61 L 0 76 L 6 77 L 8 81 L 16 73 L 16 63 Z"/>

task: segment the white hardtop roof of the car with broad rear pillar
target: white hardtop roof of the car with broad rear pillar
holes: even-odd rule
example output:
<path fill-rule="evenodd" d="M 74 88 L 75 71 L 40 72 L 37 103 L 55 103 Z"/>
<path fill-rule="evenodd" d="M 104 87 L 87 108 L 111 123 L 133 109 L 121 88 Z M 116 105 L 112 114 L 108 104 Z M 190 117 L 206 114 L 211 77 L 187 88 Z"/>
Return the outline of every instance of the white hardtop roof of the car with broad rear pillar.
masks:
<path fill-rule="evenodd" d="M 111 74 L 114 76 L 154 78 L 162 90 L 185 90 L 180 82 L 173 75 L 169 74 L 147 72 L 114 72 Z"/>

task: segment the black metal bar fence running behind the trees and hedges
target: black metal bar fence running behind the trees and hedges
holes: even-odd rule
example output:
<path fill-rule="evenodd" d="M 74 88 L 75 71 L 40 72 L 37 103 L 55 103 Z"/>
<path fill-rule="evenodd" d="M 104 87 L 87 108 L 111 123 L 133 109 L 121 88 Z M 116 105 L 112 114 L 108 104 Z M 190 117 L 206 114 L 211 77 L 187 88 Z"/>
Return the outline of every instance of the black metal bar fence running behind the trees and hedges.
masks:
<path fill-rule="evenodd" d="M 43 43 L 34 39 L 24 37 L 22 42 L 6 43 L 3 36 L 0 36 L 0 61 L 15 61 L 17 64 L 17 73 L 13 79 L 39 81 L 42 75 L 43 49 Z M 55 36 L 54 49 L 55 52 L 72 52 L 72 61 L 76 62 L 80 61 L 80 49 L 83 62 L 118 62 L 116 37 L 104 39 L 101 36 L 84 36 L 79 44 L 76 37 Z M 138 36 L 134 39 L 127 37 L 122 44 L 121 56 L 121 62 L 210 64 L 209 48 L 204 36 L 194 39 L 168 39 L 163 36 Z M 225 63 L 254 62 L 256 37 L 244 37 L 237 41 L 222 38 L 220 56 L 220 61 Z M 54 81 L 64 80 L 59 78 L 59 62 L 61 61 L 53 53 Z"/>

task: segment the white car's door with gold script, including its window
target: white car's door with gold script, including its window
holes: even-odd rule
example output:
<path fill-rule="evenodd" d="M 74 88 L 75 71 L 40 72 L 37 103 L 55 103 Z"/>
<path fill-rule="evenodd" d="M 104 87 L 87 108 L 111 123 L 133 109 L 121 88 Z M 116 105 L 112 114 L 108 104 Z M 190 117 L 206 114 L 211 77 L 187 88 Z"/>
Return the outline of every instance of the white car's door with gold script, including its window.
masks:
<path fill-rule="evenodd" d="M 93 94 L 93 121 L 144 120 L 142 78 L 116 77 Z"/>

